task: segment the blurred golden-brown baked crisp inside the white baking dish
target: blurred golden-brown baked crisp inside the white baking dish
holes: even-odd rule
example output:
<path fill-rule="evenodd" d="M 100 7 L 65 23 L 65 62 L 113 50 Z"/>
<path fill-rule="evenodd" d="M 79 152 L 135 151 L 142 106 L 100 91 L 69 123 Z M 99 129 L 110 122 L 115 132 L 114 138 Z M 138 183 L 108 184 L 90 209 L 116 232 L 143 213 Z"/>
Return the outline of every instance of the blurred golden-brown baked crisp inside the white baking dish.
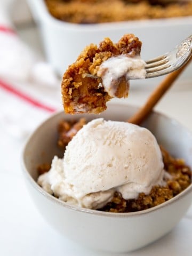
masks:
<path fill-rule="evenodd" d="M 190 1 L 45 0 L 53 17 L 71 23 L 101 23 L 192 15 Z"/>

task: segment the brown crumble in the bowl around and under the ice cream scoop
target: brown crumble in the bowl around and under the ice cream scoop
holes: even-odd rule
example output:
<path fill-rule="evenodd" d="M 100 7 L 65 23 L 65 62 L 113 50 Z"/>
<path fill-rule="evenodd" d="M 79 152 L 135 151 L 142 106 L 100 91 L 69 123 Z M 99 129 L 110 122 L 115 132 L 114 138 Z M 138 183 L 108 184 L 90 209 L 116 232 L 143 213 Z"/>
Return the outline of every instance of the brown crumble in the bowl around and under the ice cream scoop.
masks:
<path fill-rule="evenodd" d="M 65 148 L 82 125 L 86 123 L 84 118 L 79 121 L 61 121 L 58 125 L 58 146 L 65 151 Z M 75 132 L 76 129 L 76 132 Z M 70 138 L 68 134 L 71 134 Z M 67 138 L 67 139 L 66 139 Z M 191 184 L 191 170 L 185 164 L 183 159 L 172 157 L 163 147 L 160 147 L 163 155 L 164 169 L 171 174 L 171 179 L 166 179 L 164 187 L 154 186 L 149 195 L 140 193 L 137 199 L 125 200 L 121 194 L 115 192 L 111 202 L 107 203 L 99 211 L 106 212 L 135 212 L 146 210 L 156 205 L 162 204 L 174 196 L 181 193 Z M 42 164 L 38 166 L 38 175 L 50 170 L 50 164 Z M 54 195 L 53 195 L 54 196 Z"/>

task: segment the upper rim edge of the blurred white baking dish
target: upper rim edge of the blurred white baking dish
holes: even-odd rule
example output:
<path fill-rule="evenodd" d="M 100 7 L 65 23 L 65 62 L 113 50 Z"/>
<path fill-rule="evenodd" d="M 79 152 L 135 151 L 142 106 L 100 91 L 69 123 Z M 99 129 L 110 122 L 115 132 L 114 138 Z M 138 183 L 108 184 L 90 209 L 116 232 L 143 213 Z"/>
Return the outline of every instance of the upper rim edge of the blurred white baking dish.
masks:
<path fill-rule="evenodd" d="M 29 5 L 32 5 L 33 3 L 30 3 L 31 1 L 28 0 Z M 185 16 L 185 17 L 172 17 L 172 18 L 159 18 L 159 19 L 142 19 L 142 20 L 128 20 L 128 21 L 114 21 L 114 22 L 102 22 L 102 23 L 94 23 L 94 24 L 78 24 L 78 23 L 71 23 L 67 21 L 59 20 L 48 11 L 47 6 L 45 4 L 44 0 L 34 0 L 32 2 L 36 2 L 38 5 L 38 8 L 36 8 L 36 11 L 39 12 L 38 17 L 41 17 L 40 19 L 52 23 L 52 25 L 56 27 L 65 27 L 66 29 L 75 29 L 75 30 L 114 30 L 114 25 L 116 26 L 115 29 L 119 28 L 126 28 L 127 25 L 129 25 L 131 28 L 134 28 L 135 26 L 140 27 L 156 27 L 156 26 L 164 26 L 167 27 L 169 25 L 171 26 L 177 26 L 181 24 L 181 21 L 184 25 L 189 25 L 189 21 L 191 23 L 192 16 Z M 41 15 L 40 15 L 41 14 Z M 151 20 L 153 22 L 151 22 Z M 170 22 L 167 23 L 167 22 Z"/>

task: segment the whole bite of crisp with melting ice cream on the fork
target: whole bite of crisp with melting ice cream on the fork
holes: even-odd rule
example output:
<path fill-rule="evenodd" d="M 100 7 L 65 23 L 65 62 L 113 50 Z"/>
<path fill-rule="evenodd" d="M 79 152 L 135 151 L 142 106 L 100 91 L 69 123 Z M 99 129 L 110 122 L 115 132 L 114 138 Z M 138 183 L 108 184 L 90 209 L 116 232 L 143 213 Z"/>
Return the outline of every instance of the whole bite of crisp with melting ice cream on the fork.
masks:
<path fill-rule="evenodd" d="M 111 98 L 126 98 L 129 79 L 145 78 L 146 63 L 140 59 L 141 42 L 133 34 L 118 43 L 109 38 L 99 46 L 86 46 L 63 75 L 61 91 L 65 113 L 101 113 Z"/>

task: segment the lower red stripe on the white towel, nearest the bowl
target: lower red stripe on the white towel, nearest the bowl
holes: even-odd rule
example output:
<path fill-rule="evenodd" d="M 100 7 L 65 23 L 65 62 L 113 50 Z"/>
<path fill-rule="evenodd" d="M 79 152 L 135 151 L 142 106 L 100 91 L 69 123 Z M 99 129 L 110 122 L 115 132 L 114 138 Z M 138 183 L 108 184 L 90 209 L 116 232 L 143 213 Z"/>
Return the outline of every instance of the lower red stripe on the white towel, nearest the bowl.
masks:
<path fill-rule="evenodd" d="M 0 80 L 0 87 L 2 89 L 4 89 L 5 91 L 7 92 L 10 92 L 12 94 L 14 94 L 16 97 L 28 102 L 29 104 L 35 106 L 35 107 L 38 107 L 38 108 L 41 108 L 43 110 L 46 110 L 46 111 L 49 111 L 51 113 L 53 113 L 54 111 L 56 111 L 56 109 L 52 108 L 52 107 L 49 107 L 49 106 L 46 106 L 44 105 L 43 103 L 31 98 L 29 95 L 15 89 L 12 85 L 8 84 L 8 83 L 5 83 L 4 81 Z"/>

